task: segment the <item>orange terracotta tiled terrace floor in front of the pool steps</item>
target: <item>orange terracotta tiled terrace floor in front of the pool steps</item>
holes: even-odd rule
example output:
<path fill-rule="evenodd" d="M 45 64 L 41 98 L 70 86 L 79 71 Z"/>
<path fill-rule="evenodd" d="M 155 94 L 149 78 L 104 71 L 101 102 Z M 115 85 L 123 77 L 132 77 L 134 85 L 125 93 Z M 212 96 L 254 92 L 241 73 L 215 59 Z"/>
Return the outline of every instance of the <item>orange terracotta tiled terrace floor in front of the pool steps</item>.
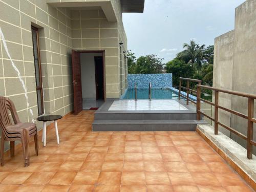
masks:
<path fill-rule="evenodd" d="M 29 167 L 6 159 L 0 191 L 251 191 L 196 132 L 91 132 L 93 118 L 59 122 Z"/>

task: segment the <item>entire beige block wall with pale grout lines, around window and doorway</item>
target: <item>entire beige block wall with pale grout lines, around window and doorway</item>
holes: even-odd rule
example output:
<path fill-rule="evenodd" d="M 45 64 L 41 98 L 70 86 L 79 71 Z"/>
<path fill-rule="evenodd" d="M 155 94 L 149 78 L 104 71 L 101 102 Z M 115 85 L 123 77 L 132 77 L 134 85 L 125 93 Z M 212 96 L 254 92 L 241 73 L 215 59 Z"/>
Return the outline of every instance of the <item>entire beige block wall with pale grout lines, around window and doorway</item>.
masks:
<path fill-rule="evenodd" d="M 44 0 L 0 1 L 5 37 L 0 41 L 0 95 L 14 101 L 20 120 L 31 122 L 38 116 L 31 26 L 39 29 L 46 114 L 73 111 L 72 49 L 105 50 L 106 96 L 120 97 L 126 88 L 127 63 L 124 54 L 120 56 L 119 42 L 126 51 L 127 39 L 120 1 L 113 1 L 112 6 L 117 22 L 108 22 L 102 10 L 53 8 Z M 36 124 L 40 129 L 41 122 Z"/>

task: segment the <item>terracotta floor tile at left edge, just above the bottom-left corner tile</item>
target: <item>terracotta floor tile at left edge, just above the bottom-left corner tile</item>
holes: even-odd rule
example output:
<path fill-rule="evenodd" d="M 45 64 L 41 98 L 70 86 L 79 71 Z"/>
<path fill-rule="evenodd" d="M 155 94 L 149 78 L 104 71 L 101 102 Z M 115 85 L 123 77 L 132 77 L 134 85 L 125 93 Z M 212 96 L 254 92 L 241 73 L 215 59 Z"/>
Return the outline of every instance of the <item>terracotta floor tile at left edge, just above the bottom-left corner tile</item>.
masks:
<path fill-rule="evenodd" d="M 32 173 L 16 172 L 10 173 L 1 183 L 2 184 L 23 184 Z"/>

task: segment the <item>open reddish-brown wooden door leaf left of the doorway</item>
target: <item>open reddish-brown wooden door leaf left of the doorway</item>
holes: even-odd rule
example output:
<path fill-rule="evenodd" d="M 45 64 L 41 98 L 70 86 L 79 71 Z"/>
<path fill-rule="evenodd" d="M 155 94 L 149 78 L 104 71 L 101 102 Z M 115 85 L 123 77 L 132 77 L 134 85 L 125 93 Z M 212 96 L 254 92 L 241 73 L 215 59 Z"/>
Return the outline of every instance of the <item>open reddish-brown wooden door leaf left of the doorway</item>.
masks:
<path fill-rule="evenodd" d="M 74 90 L 74 114 L 82 111 L 82 81 L 80 53 L 72 50 L 72 71 L 73 71 L 73 90 Z"/>

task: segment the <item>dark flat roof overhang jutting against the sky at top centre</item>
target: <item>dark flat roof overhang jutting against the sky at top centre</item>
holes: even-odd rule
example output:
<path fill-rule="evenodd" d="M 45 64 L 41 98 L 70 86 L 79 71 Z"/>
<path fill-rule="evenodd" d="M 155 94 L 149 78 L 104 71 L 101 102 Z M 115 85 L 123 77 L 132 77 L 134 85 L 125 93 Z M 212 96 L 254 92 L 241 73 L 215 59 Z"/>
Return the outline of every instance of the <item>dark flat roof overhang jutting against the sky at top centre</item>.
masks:
<path fill-rule="evenodd" d="M 121 0 L 123 13 L 143 13 L 145 0 Z"/>

